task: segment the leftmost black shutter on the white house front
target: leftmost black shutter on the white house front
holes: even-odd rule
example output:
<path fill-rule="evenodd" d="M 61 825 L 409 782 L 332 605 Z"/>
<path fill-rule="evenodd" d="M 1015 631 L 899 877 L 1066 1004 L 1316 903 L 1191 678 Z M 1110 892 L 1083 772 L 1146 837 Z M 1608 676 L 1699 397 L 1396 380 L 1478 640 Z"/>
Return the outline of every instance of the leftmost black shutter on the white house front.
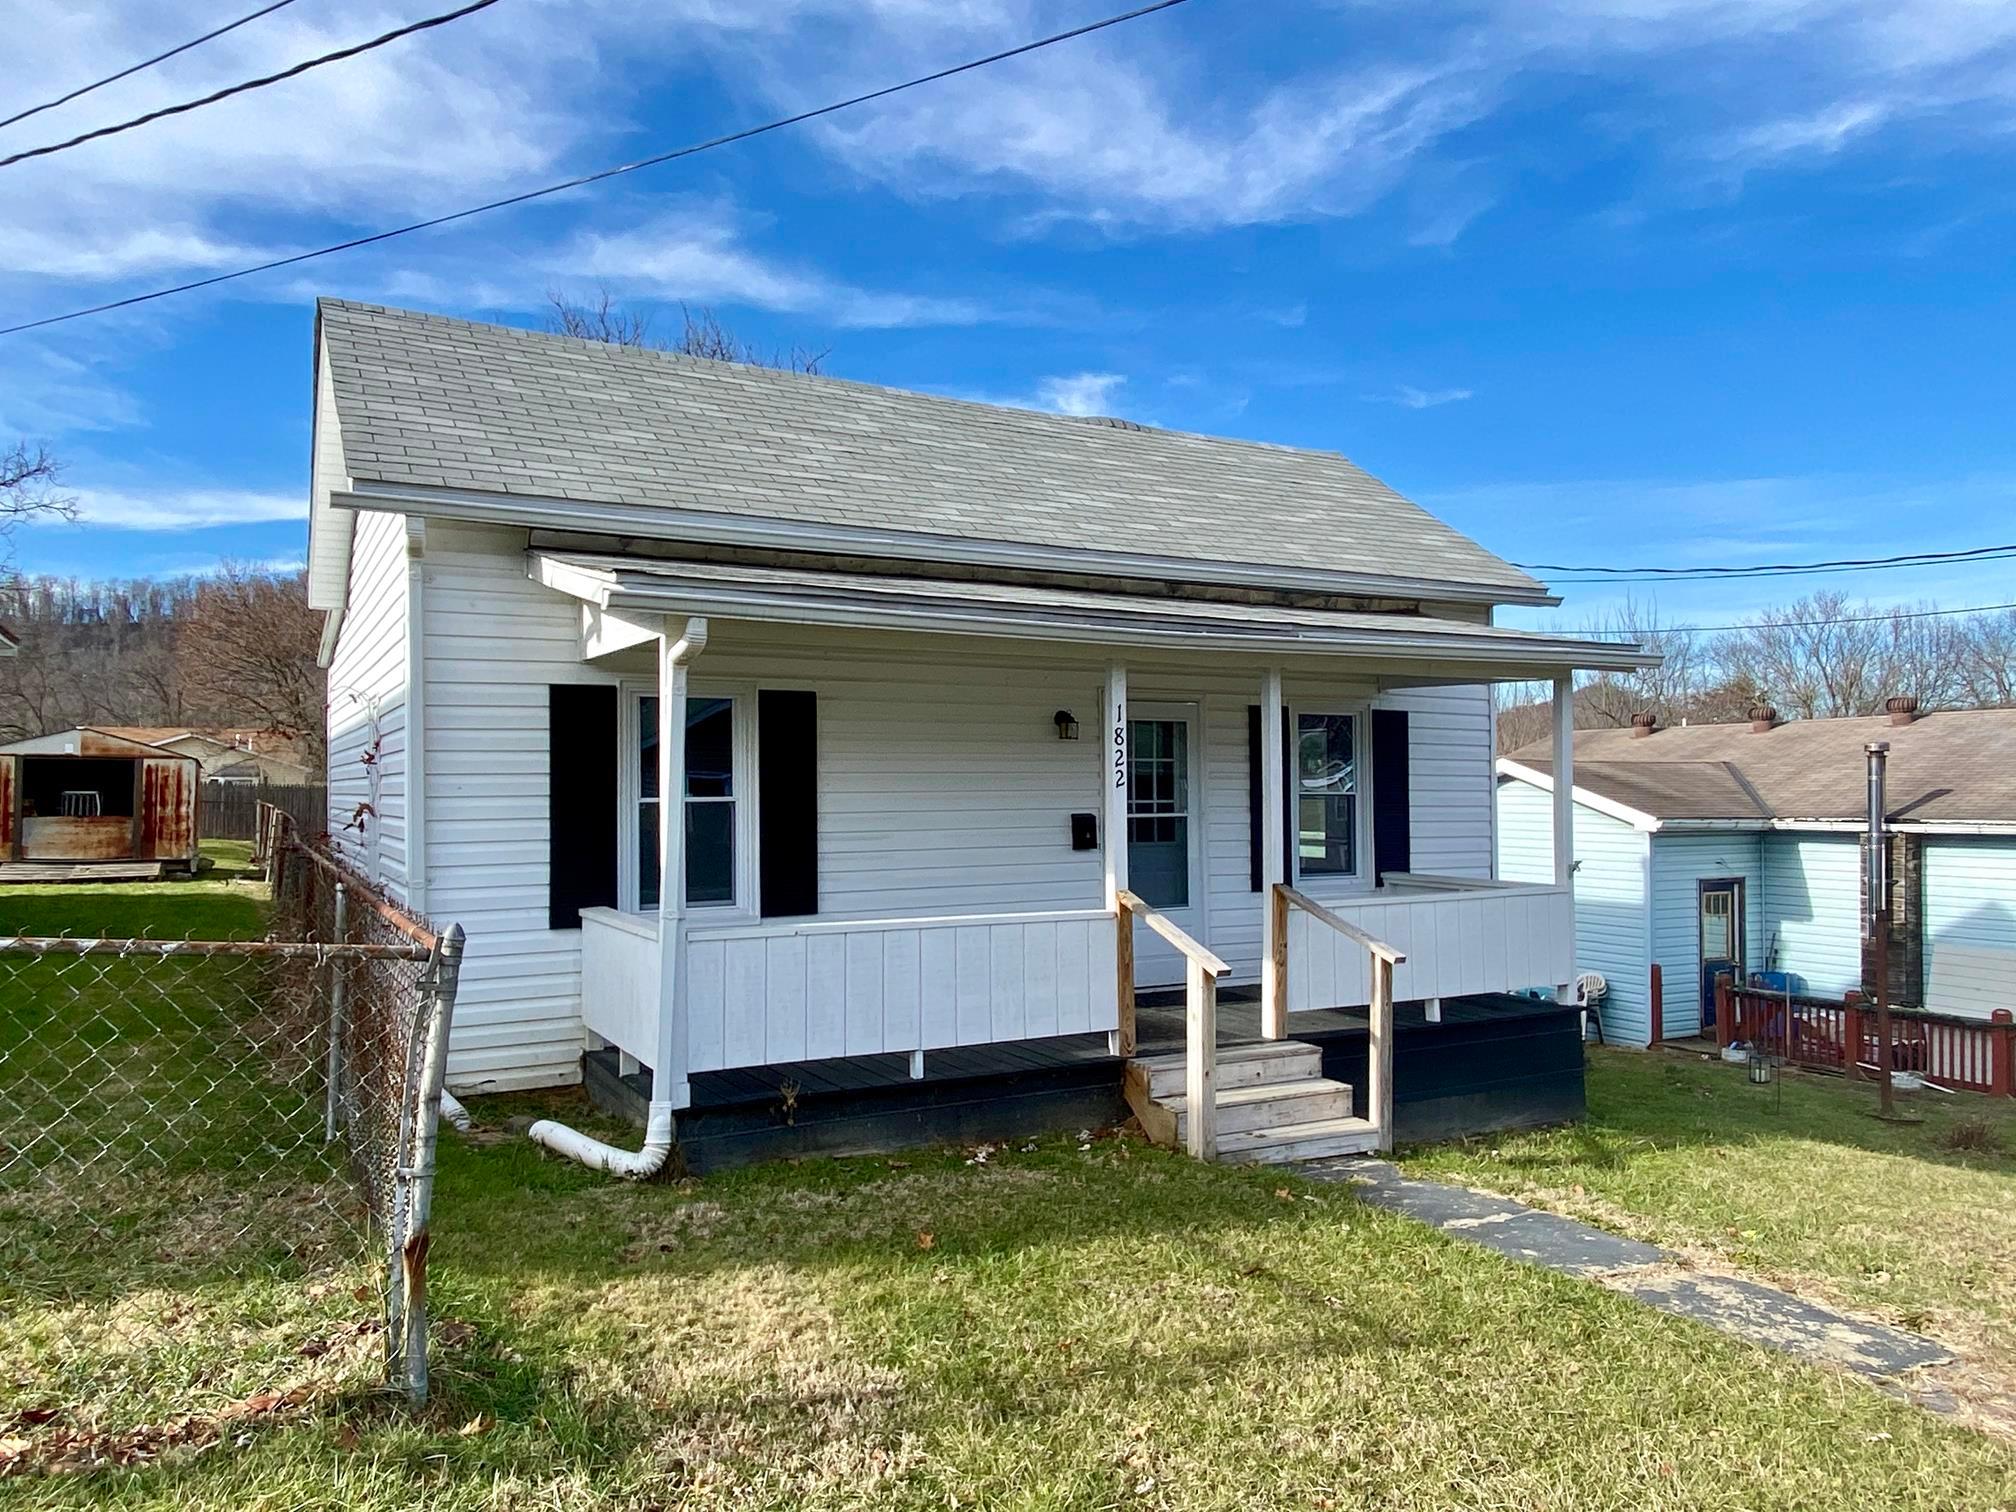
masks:
<path fill-rule="evenodd" d="M 552 683 L 546 738 L 546 925 L 579 929 L 617 905 L 617 689 Z"/>

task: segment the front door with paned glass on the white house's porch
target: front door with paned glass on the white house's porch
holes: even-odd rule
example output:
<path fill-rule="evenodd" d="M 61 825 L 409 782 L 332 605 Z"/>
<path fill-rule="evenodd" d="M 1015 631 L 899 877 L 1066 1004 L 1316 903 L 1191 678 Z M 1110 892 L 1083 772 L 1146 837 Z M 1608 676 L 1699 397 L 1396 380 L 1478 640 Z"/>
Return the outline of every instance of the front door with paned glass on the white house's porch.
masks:
<path fill-rule="evenodd" d="M 1127 887 L 1198 939 L 1204 939 L 1202 804 L 1198 706 L 1131 706 L 1127 710 Z M 1181 954 L 1137 923 L 1135 986 L 1165 988 L 1181 982 Z"/>

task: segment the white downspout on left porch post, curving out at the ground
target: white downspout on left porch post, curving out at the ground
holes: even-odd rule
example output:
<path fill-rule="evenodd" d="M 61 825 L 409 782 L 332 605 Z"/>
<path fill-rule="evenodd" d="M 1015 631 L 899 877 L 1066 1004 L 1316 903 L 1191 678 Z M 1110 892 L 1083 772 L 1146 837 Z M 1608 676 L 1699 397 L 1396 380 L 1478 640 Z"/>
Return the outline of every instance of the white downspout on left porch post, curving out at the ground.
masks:
<path fill-rule="evenodd" d="M 685 667 L 708 649 L 708 621 L 687 619 L 677 641 L 667 625 L 657 645 L 657 1046 L 651 1056 L 651 1111 L 645 1117 L 643 1149 L 617 1149 L 552 1119 L 540 1119 L 526 1131 L 534 1145 L 631 1181 L 645 1181 L 665 1165 L 673 1143 L 673 1113 L 687 1103 L 685 1018 L 679 1012 L 685 1000 L 679 976 L 685 905 Z"/>

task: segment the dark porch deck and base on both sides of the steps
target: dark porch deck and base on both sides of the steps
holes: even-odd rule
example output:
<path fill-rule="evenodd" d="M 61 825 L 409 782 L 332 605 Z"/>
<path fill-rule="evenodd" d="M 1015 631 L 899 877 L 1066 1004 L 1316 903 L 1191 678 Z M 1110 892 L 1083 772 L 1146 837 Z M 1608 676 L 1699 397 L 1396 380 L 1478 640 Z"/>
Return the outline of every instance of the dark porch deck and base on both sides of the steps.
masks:
<path fill-rule="evenodd" d="M 1181 1004 L 1143 992 L 1143 1054 L 1183 1046 Z M 1583 1117 L 1581 1016 L 1536 998 L 1445 998 L 1441 1022 L 1421 1004 L 1393 1010 L 1393 1125 L 1401 1141 L 1452 1139 L 1492 1129 Z M 1322 1073 L 1351 1083 L 1365 1113 L 1363 1010 L 1294 1014 L 1290 1036 L 1322 1050 Z M 1260 1038 L 1254 988 L 1220 998 L 1218 1042 Z M 677 1119 L 685 1167 L 696 1173 L 794 1155 L 851 1155 L 937 1141 L 1004 1141 L 1044 1131 L 1099 1129 L 1129 1117 L 1123 1058 L 1105 1034 L 929 1050 L 923 1077 L 909 1058 L 841 1060 L 708 1070 L 691 1079 L 691 1107 Z M 651 1079 L 617 1075 L 613 1050 L 585 1058 L 589 1097 L 643 1123 Z"/>

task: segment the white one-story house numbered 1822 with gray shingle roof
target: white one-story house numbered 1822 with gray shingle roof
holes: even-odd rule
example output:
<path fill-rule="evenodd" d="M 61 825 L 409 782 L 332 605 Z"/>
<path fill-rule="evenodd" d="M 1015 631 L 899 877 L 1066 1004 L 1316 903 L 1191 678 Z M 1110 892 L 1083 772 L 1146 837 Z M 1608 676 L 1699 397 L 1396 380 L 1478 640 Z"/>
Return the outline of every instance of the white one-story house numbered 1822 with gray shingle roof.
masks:
<path fill-rule="evenodd" d="M 1343 456 L 339 300 L 314 369 L 331 831 L 468 931 L 460 1091 L 607 1052 L 649 1151 L 712 1073 L 1125 1054 L 1137 988 L 1572 980 L 1486 685 L 1643 657 Z"/>

